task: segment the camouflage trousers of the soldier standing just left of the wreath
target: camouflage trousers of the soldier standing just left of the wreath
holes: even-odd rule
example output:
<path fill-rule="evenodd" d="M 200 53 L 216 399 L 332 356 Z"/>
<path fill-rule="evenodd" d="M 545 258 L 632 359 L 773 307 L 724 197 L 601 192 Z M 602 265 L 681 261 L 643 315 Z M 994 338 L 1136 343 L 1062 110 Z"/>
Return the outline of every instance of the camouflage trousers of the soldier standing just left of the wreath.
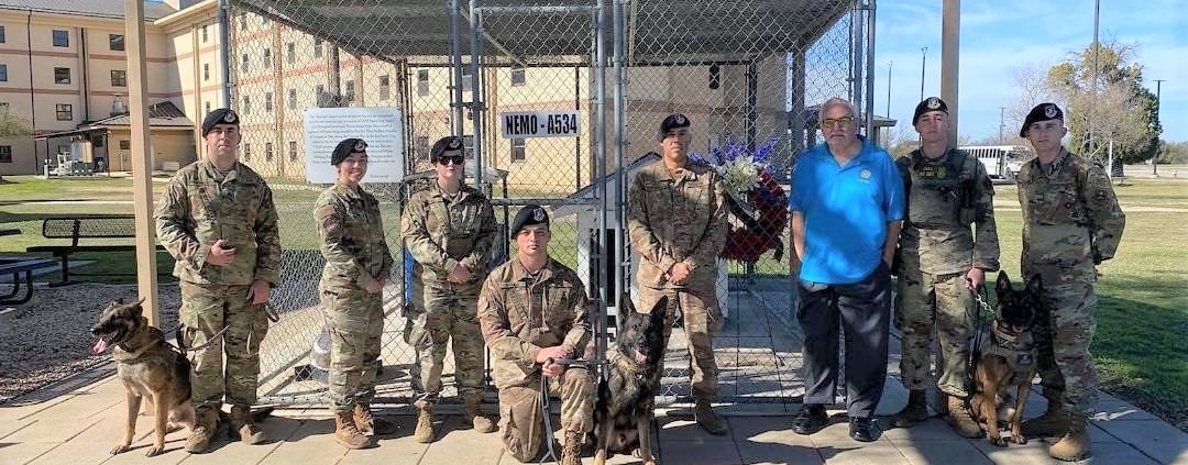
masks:
<path fill-rule="evenodd" d="M 668 316 L 664 318 L 664 346 L 672 336 L 676 311 L 681 310 L 684 323 L 685 348 L 689 351 L 690 384 L 694 397 L 713 399 L 718 395 L 718 361 L 714 359 L 714 335 L 722 329 L 722 312 L 718 306 L 718 293 L 712 285 L 696 288 L 652 288 L 639 286 L 640 313 L 651 312 L 656 301 L 669 297 Z M 675 305 L 672 305 L 675 304 Z M 661 361 L 659 376 L 664 372 Z"/>

